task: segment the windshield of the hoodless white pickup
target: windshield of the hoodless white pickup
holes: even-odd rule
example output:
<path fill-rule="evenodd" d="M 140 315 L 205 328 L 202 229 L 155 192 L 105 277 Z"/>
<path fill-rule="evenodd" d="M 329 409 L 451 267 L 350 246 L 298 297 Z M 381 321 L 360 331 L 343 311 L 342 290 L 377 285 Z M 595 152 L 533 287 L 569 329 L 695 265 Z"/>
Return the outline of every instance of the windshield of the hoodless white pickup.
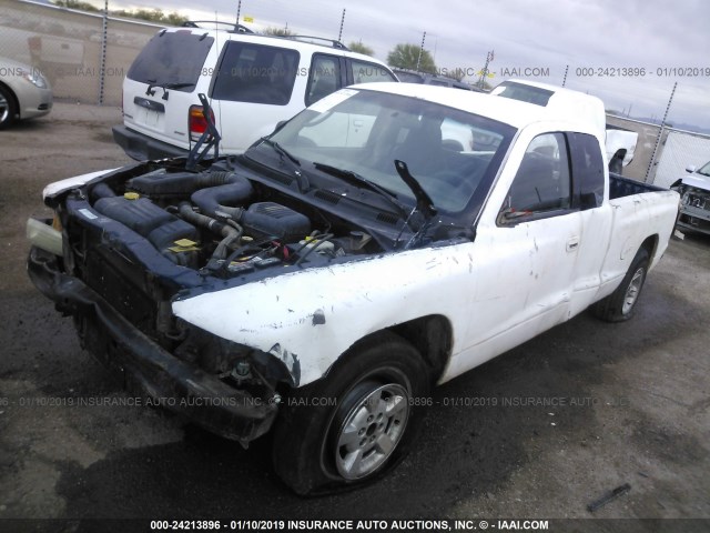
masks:
<path fill-rule="evenodd" d="M 343 89 L 271 139 L 305 171 L 325 165 L 348 171 L 414 205 L 417 199 L 395 167 L 396 160 L 404 161 L 434 208 L 455 214 L 474 197 L 485 198 L 514 132 L 509 125 L 422 99 Z"/>

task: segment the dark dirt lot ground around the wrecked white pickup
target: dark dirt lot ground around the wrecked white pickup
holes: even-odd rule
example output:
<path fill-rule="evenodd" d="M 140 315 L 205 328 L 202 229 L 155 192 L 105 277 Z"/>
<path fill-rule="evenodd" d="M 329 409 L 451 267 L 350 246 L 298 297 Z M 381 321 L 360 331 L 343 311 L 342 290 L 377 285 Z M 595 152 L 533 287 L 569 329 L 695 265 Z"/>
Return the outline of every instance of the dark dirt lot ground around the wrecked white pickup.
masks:
<path fill-rule="evenodd" d="M 710 519 L 707 238 L 671 243 L 635 320 L 585 313 L 439 388 L 417 451 L 368 489 L 303 500 L 258 445 L 111 405 L 126 393 L 24 273 L 24 222 L 47 183 L 129 162 L 119 121 L 58 104 L 0 132 L 0 519 Z"/>

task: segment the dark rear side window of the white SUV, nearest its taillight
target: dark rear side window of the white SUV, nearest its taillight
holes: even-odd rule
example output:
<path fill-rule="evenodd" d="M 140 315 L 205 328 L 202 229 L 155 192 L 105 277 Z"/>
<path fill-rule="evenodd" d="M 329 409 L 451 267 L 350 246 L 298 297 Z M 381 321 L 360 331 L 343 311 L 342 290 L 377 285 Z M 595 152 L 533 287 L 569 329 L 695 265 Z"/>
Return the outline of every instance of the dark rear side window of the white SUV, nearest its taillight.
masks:
<path fill-rule="evenodd" d="M 286 105 L 298 72 L 295 50 L 230 41 L 224 47 L 212 98 Z"/>

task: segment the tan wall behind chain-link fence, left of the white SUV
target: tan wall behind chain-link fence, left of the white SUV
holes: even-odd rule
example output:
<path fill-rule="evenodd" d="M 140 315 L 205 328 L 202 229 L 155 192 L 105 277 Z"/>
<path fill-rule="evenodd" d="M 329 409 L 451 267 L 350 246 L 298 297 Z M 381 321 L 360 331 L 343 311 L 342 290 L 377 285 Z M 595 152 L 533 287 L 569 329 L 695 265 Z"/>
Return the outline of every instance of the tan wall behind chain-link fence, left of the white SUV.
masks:
<path fill-rule="evenodd" d="M 103 13 L 0 0 L 0 57 L 39 69 L 55 99 L 121 105 L 123 78 L 160 28 Z"/>

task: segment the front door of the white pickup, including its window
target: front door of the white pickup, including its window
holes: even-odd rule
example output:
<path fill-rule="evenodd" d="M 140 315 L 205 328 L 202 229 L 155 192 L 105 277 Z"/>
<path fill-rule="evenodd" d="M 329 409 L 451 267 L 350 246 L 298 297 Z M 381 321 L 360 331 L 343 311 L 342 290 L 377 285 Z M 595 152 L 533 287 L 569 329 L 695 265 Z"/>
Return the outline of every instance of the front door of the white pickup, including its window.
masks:
<path fill-rule="evenodd" d="M 505 197 L 489 200 L 488 220 L 484 212 L 476 232 L 478 281 L 467 339 L 481 359 L 569 316 L 582 238 L 572 195 L 566 135 L 547 132 L 527 143 Z"/>

